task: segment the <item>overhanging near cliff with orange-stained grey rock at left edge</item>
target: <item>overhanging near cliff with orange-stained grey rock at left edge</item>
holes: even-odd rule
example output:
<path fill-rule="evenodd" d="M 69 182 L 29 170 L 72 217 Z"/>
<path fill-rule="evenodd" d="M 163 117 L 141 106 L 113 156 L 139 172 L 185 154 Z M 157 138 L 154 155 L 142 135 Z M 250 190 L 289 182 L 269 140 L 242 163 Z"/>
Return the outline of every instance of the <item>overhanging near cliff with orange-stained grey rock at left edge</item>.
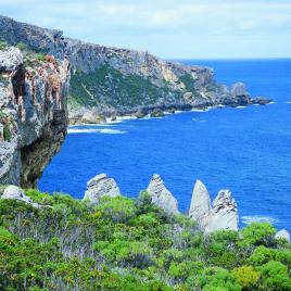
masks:
<path fill-rule="evenodd" d="M 1 26 L 2 27 L 2 26 Z M 0 181 L 35 186 L 66 135 L 68 61 L 0 49 Z"/>

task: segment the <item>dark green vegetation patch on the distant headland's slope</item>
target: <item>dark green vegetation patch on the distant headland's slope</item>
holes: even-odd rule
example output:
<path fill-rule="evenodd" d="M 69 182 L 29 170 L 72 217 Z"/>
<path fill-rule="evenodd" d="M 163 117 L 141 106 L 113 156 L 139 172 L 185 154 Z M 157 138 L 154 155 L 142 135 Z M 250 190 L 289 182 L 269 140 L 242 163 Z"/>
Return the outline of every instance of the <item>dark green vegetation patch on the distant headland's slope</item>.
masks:
<path fill-rule="evenodd" d="M 168 98 L 170 90 L 166 81 L 159 87 L 142 76 L 125 75 L 104 64 L 93 73 L 73 72 L 69 94 L 80 105 L 96 106 L 101 102 L 122 109 L 154 104 L 160 98 Z"/>

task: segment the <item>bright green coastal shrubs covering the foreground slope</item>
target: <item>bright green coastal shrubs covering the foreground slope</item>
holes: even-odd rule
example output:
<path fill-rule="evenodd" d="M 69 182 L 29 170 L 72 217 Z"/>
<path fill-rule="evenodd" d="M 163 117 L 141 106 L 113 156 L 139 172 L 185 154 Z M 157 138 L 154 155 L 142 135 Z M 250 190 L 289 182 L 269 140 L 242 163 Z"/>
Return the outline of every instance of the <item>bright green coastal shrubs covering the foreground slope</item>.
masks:
<path fill-rule="evenodd" d="M 1 290 L 291 290 L 291 245 L 267 223 L 203 237 L 147 192 L 97 206 L 26 193 L 47 206 L 0 200 Z"/>

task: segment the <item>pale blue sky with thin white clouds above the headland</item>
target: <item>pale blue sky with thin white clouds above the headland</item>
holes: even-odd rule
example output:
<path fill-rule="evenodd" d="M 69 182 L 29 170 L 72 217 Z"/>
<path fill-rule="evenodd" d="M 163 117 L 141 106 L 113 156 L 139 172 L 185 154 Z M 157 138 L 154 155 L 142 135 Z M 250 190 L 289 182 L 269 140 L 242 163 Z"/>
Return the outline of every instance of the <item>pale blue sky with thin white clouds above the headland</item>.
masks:
<path fill-rule="evenodd" d="M 0 0 L 0 14 L 163 59 L 291 58 L 291 0 Z"/>

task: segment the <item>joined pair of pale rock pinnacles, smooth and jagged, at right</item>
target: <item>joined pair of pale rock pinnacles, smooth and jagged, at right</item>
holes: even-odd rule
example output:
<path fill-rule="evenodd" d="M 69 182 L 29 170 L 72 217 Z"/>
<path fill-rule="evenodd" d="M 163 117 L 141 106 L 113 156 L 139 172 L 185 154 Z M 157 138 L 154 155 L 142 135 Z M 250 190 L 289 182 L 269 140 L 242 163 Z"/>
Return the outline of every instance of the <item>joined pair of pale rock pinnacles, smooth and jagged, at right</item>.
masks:
<path fill-rule="evenodd" d="M 231 192 L 220 190 L 211 206 L 208 191 L 200 180 L 194 186 L 189 216 L 204 232 L 219 229 L 238 230 L 238 208 L 231 199 Z"/>

